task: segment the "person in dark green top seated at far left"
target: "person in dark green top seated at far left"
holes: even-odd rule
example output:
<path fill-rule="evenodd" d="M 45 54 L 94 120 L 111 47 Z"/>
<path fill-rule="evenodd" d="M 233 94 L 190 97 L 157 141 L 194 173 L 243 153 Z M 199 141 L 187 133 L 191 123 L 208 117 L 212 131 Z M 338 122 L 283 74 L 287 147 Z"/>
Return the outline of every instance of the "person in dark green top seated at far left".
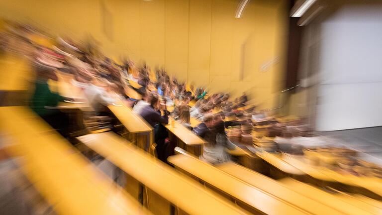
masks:
<path fill-rule="evenodd" d="M 64 101 L 64 97 L 50 91 L 48 80 L 57 80 L 53 67 L 37 64 L 35 80 L 35 89 L 31 101 L 30 108 L 41 116 L 48 124 L 57 129 L 63 136 L 68 136 L 69 117 L 56 107 L 59 102 Z"/>

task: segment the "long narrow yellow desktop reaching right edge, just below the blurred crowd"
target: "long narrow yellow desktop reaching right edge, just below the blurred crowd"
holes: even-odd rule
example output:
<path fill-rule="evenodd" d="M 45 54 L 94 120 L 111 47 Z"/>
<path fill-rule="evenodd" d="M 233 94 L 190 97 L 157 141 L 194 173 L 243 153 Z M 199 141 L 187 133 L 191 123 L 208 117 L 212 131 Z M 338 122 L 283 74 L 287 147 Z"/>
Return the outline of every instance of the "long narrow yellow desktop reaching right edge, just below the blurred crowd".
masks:
<path fill-rule="evenodd" d="M 311 166 L 298 159 L 300 157 L 285 155 L 283 160 L 300 169 L 306 174 L 324 181 L 340 182 L 351 186 L 366 188 L 382 196 L 382 180 L 373 177 L 359 177 L 355 175 L 343 175 L 326 167 Z"/>

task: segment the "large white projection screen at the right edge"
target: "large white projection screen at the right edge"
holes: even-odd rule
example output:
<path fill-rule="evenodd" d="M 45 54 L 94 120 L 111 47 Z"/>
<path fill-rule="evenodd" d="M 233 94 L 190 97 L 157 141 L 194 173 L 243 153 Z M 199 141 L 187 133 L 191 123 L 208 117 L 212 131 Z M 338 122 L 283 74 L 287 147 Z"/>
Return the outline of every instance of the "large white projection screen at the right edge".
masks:
<path fill-rule="evenodd" d="M 347 5 L 321 23 L 316 129 L 382 125 L 382 5 Z"/>

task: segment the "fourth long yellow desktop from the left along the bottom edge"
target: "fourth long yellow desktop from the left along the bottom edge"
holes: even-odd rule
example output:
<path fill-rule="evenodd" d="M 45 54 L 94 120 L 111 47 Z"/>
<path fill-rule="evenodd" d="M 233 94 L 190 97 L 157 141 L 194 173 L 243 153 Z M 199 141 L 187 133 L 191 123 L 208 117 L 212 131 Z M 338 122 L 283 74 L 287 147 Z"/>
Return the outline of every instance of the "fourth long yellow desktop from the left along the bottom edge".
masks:
<path fill-rule="evenodd" d="M 283 183 L 233 162 L 218 165 L 217 168 L 312 214 L 370 214 L 345 202 L 337 202 L 336 205 L 333 205 L 331 201 L 332 199 L 335 199 L 335 197 L 326 197 L 321 203 L 317 202 L 293 191 L 293 188 L 291 187 L 289 189 Z M 309 192 L 309 189 L 306 189 L 305 191 Z"/>

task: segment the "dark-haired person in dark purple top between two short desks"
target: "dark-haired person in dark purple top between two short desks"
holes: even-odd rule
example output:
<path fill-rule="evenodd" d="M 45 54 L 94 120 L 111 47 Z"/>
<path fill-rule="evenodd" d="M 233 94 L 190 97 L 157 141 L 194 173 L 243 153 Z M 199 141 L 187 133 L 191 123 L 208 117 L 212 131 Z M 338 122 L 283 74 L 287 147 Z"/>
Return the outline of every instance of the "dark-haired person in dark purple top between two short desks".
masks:
<path fill-rule="evenodd" d="M 156 150 L 158 154 L 158 158 L 167 162 L 167 146 L 165 145 L 165 139 L 168 137 L 168 132 L 166 127 L 162 124 L 169 123 L 168 111 L 166 110 L 166 106 L 163 104 L 159 104 L 158 95 L 155 93 L 151 93 L 148 96 L 147 102 L 150 104 L 142 109 L 140 115 L 144 118 L 153 128 L 154 128 L 154 140 L 157 144 Z M 161 111 L 164 112 L 164 115 L 161 115 Z"/>

